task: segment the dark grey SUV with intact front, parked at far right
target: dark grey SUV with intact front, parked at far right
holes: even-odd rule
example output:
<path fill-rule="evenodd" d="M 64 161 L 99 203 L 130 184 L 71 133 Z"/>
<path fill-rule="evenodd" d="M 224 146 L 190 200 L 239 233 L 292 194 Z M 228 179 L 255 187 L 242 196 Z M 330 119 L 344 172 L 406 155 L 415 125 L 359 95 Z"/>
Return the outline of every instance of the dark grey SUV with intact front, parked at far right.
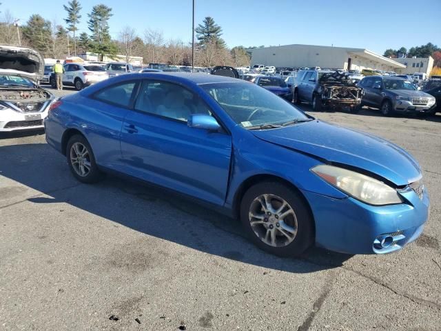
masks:
<path fill-rule="evenodd" d="M 358 86 L 365 91 L 362 105 L 378 108 L 384 116 L 392 112 L 432 114 L 435 108 L 435 98 L 417 90 L 407 79 L 369 76 L 363 78 Z"/>

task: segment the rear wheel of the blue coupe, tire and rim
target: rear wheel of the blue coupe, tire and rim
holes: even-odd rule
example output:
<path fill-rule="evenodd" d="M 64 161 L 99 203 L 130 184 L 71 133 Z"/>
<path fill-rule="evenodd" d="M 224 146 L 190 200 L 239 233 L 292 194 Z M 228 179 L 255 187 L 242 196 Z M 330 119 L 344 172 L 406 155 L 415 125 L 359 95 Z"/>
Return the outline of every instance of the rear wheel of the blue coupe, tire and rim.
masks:
<path fill-rule="evenodd" d="M 66 156 L 70 171 L 81 183 L 96 183 L 102 179 L 92 148 L 80 134 L 75 134 L 69 139 Z"/>

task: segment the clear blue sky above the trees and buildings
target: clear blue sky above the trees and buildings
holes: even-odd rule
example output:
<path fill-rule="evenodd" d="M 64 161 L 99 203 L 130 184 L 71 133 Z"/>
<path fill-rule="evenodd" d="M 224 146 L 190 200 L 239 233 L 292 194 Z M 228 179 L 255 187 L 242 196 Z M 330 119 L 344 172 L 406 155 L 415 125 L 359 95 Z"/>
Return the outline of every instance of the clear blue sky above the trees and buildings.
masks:
<path fill-rule="evenodd" d="M 192 0 L 80 0 L 79 32 L 89 32 L 88 12 L 104 3 L 113 8 L 110 33 L 118 37 L 132 26 L 142 37 L 146 28 L 165 39 L 192 39 Z M 25 23 L 31 14 L 64 23 L 68 0 L 1 0 Z M 211 16 L 223 28 L 229 47 L 304 43 L 367 48 L 409 49 L 428 42 L 441 46 L 441 0 L 196 0 L 196 26 Z"/>

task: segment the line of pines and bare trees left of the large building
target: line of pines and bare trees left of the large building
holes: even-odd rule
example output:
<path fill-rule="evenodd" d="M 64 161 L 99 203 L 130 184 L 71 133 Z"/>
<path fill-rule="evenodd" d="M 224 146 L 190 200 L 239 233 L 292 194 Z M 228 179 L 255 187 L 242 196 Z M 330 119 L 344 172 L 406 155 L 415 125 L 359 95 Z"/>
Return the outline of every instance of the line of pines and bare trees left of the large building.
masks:
<path fill-rule="evenodd" d="M 112 8 L 99 4 L 87 14 L 88 30 L 77 34 L 78 25 L 83 15 L 78 0 L 68 1 L 63 5 L 66 12 L 65 26 L 49 21 L 40 14 L 32 14 L 28 21 L 17 26 L 9 10 L 0 17 L 0 43 L 14 46 L 28 46 L 38 50 L 44 57 L 63 59 L 83 52 L 92 52 L 116 59 L 116 54 L 123 54 L 126 61 L 131 57 L 143 57 L 144 63 L 167 63 L 189 66 L 192 63 L 191 43 L 180 39 L 165 40 L 160 30 L 146 29 L 141 34 L 134 28 L 125 26 L 117 39 L 110 36 L 109 19 L 113 16 Z M 249 66 L 250 57 L 243 46 L 231 50 L 221 38 L 222 28 L 212 17 L 205 17 L 196 31 L 195 66 L 210 67 Z"/>

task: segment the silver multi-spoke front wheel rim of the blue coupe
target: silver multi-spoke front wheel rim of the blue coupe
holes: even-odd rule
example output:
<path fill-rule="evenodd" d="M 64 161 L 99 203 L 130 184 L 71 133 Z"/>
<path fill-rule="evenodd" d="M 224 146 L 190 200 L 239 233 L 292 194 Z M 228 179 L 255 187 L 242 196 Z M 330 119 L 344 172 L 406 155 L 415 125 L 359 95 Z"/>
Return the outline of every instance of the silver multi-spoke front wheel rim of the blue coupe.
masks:
<path fill-rule="evenodd" d="M 273 247 L 289 245 L 296 238 L 296 213 L 287 201 L 274 194 L 254 199 L 249 208 L 249 223 L 256 236 Z"/>

